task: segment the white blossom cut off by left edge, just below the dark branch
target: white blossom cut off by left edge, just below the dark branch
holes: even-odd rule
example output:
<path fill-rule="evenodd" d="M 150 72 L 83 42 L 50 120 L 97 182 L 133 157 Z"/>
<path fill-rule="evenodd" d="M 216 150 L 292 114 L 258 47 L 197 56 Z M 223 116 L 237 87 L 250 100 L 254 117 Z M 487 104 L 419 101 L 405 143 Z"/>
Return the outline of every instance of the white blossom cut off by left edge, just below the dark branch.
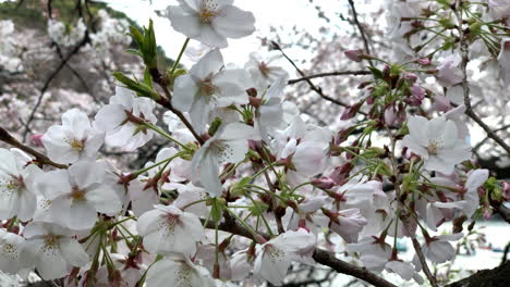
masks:
<path fill-rule="evenodd" d="M 0 149 L 0 220 L 28 221 L 37 205 L 35 176 L 41 173 L 12 151 Z"/>

